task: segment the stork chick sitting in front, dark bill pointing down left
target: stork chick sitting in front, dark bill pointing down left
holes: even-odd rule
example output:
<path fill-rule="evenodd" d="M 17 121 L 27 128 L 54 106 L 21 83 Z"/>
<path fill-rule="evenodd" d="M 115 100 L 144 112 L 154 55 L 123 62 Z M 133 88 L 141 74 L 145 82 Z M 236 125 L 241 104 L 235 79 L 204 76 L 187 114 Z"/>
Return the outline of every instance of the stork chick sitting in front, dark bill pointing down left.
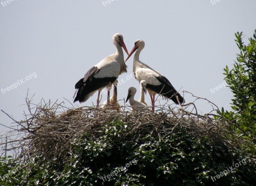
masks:
<path fill-rule="evenodd" d="M 130 87 L 128 89 L 128 95 L 127 95 L 127 98 L 126 98 L 126 102 L 129 100 L 129 103 L 132 107 L 132 111 L 137 111 L 137 112 L 139 112 L 139 111 L 140 112 L 149 111 L 147 105 L 134 100 L 134 96 L 135 96 L 136 92 L 137 92 L 137 89 L 135 87 Z"/>

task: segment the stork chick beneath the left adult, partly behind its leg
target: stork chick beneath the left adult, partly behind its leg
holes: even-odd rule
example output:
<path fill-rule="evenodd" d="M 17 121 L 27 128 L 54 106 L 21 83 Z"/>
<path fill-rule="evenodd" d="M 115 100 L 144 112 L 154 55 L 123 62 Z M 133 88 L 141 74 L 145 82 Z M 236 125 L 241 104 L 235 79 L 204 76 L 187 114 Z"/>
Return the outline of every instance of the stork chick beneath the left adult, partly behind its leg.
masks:
<path fill-rule="evenodd" d="M 113 83 L 113 94 L 109 98 L 110 105 L 108 105 L 108 100 L 104 101 L 104 103 L 100 106 L 101 108 L 109 108 L 114 111 L 121 111 L 120 104 L 117 102 L 117 83 L 118 80 Z"/>

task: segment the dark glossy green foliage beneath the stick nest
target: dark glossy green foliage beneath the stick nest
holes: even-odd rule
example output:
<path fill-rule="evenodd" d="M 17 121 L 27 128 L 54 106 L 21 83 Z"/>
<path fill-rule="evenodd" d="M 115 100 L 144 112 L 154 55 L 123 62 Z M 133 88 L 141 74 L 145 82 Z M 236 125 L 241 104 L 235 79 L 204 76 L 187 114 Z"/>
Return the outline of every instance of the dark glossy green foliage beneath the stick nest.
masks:
<path fill-rule="evenodd" d="M 244 155 L 228 150 L 224 144 L 204 136 L 189 134 L 186 128 L 176 128 L 169 134 L 148 133 L 128 138 L 127 124 L 119 121 L 102 125 L 99 136 L 84 133 L 77 137 L 70 154 L 70 163 L 62 165 L 44 161 L 43 154 L 31 155 L 35 163 L 23 168 L 0 185 L 253 185 L 256 182 L 255 164 L 246 165 L 213 182 L 227 167 L 244 159 Z M 125 167 L 132 160 L 125 170 Z M 10 161 L 10 160 L 9 160 Z M 1 165 L 4 165 L 1 162 Z M 17 165 L 5 165 L 0 175 Z M 115 170 L 117 175 L 103 181 Z M 24 180 L 24 181 L 23 181 Z M 23 182 L 22 182 L 23 181 Z"/>

